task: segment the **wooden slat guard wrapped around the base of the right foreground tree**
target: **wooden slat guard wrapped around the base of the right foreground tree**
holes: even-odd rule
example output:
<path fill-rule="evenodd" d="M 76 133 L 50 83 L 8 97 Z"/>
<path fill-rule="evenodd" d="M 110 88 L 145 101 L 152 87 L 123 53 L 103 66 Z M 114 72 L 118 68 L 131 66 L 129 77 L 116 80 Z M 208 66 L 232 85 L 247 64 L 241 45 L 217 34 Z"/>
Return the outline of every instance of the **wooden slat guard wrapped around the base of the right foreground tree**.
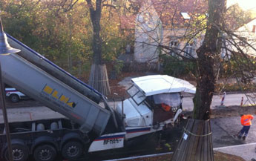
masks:
<path fill-rule="evenodd" d="M 210 121 L 188 119 L 171 161 L 214 161 Z"/>

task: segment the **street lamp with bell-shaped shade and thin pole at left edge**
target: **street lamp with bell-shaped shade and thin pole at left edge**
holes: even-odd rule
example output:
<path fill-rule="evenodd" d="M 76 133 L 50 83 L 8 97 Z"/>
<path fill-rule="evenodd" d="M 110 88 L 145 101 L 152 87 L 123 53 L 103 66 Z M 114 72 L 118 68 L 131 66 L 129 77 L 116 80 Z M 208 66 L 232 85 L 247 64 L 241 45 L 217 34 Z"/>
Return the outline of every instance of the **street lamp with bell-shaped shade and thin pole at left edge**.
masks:
<path fill-rule="evenodd" d="M 1 24 L 1 17 L 0 17 L 0 55 L 9 55 L 10 53 L 18 53 L 20 50 L 15 49 L 13 47 L 10 47 L 10 45 L 7 42 L 7 36 L 4 33 L 3 25 Z M 13 151 L 11 147 L 10 142 L 10 129 L 8 125 L 8 119 L 7 119 L 7 111 L 5 106 L 5 95 L 4 95 L 4 83 L 1 79 L 1 64 L 0 64 L 0 108 L 3 111 L 4 116 L 4 126 L 5 126 L 5 133 L 6 133 L 6 139 L 7 139 L 7 147 L 8 147 L 8 154 L 9 154 L 9 160 L 13 161 Z"/>

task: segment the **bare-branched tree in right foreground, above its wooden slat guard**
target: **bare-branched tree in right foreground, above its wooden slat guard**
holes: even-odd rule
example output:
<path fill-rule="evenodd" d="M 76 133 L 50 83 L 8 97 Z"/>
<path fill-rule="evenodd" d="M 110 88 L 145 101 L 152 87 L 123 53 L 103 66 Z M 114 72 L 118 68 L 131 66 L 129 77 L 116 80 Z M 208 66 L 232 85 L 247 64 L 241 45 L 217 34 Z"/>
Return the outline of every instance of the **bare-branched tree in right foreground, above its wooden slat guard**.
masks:
<path fill-rule="evenodd" d="M 255 60 L 248 56 L 249 50 L 246 50 L 250 48 L 253 52 L 256 51 L 254 48 L 255 40 L 245 39 L 244 36 L 240 36 L 240 33 L 234 32 L 238 27 L 252 19 L 248 17 L 248 12 L 237 9 L 237 5 L 226 8 L 226 0 L 209 0 L 208 4 L 197 0 L 193 1 L 194 6 L 189 6 L 194 7 L 193 10 L 190 10 L 191 14 L 188 14 L 187 18 L 183 16 L 184 22 L 179 22 L 177 15 L 180 15 L 183 10 L 180 6 L 185 5 L 183 3 L 187 1 L 151 1 L 152 3 L 145 5 L 140 10 L 137 18 L 137 22 L 140 23 L 138 25 L 139 36 L 146 35 L 144 36 L 145 39 L 149 37 L 151 42 L 139 39 L 137 44 L 141 47 L 145 45 L 154 46 L 156 50 L 157 47 L 160 48 L 160 53 L 155 52 L 159 56 L 151 55 L 151 59 L 148 59 L 148 61 L 168 55 L 176 58 L 177 61 L 189 61 L 197 64 L 195 75 L 197 92 L 194 97 L 193 116 L 194 119 L 209 119 L 211 99 L 217 83 L 218 73 L 223 65 L 232 66 L 235 63 L 237 67 L 232 70 L 232 76 L 241 77 L 242 82 L 246 82 L 246 80 L 255 76 L 255 65 L 253 64 Z M 157 6 L 160 4 L 162 6 Z M 171 6 L 171 8 L 168 8 L 168 6 Z M 159 18 L 163 20 L 162 22 L 150 25 L 152 22 L 156 22 L 152 21 L 154 16 L 151 16 L 151 13 L 153 12 L 148 12 L 151 7 L 157 10 Z M 208 13 L 204 10 L 208 10 Z M 237 13 L 241 15 L 242 19 L 237 17 Z M 166 20 L 166 18 L 168 19 Z M 150 21 L 147 22 L 147 20 Z M 160 33 L 158 30 L 163 27 L 165 27 L 165 30 L 168 28 L 168 32 L 171 34 L 165 34 L 167 32 L 157 36 L 152 34 Z M 185 45 L 180 45 L 180 43 Z M 197 50 L 195 50 L 196 47 L 188 48 L 186 45 L 190 43 L 195 43 L 200 47 Z M 241 47 L 241 43 L 243 47 Z M 194 50 L 194 53 L 191 50 Z"/>

